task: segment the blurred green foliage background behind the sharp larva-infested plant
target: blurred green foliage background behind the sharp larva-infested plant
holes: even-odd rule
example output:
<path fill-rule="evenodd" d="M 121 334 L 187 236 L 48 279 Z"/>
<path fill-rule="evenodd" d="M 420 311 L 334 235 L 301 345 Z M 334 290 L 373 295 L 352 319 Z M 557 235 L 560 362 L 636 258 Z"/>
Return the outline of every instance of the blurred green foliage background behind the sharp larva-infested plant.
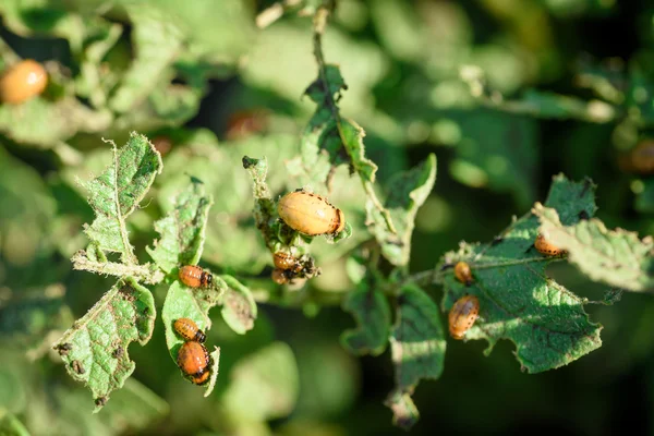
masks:
<path fill-rule="evenodd" d="M 34 435 L 403 433 L 383 405 L 393 383 L 389 352 L 356 359 L 338 342 L 354 325 L 338 307 L 351 284 L 346 255 L 371 239 L 363 191 L 347 168 L 330 201 L 354 235 L 312 245 L 324 274 L 308 287 L 335 304 L 301 307 L 293 294 L 259 304 L 243 337 L 216 314 L 208 343 L 222 354 L 210 398 L 180 377 L 160 320 L 147 346 L 130 347 L 136 371 L 99 414 L 49 350 L 113 283 L 69 261 L 93 219 L 76 179 L 109 162 L 102 137 L 121 145 L 138 131 L 164 155 L 162 174 L 130 221 L 142 262 L 153 221 L 193 174 L 215 198 L 202 264 L 255 294 L 272 289 L 241 157 L 267 156 L 275 194 L 302 185 L 286 162 L 314 110 L 301 98 L 317 71 L 302 15 L 317 2 L 286 2 L 283 17 L 257 28 L 272 3 L 1 2 L 0 66 L 32 58 L 50 74 L 43 96 L 0 106 L 1 425 Z M 412 271 L 461 240 L 492 240 L 543 201 L 559 172 L 598 184 L 607 227 L 654 233 L 654 178 L 620 166 L 654 133 L 653 23 L 654 1 L 338 2 L 325 56 L 348 83 L 342 112 L 366 130 L 379 184 L 438 157 Z M 607 290 L 567 265 L 549 272 L 591 300 Z M 166 289 L 153 291 L 160 307 Z M 422 417 L 412 433 L 609 435 L 629 425 L 654 434 L 654 299 L 630 293 L 588 311 L 605 326 L 603 348 L 544 374 L 522 374 L 511 343 L 484 358 L 484 343 L 449 341 L 441 379 L 416 390 Z"/>

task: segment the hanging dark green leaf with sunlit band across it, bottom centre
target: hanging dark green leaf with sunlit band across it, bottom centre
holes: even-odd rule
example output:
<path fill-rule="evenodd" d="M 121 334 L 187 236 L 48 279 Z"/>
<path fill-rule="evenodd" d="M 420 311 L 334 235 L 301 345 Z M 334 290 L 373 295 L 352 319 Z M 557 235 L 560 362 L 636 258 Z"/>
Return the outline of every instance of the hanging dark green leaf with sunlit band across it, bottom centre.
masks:
<path fill-rule="evenodd" d="M 412 392 L 421 379 L 440 377 L 446 341 L 438 306 L 422 289 L 405 284 L 398 304 L 390 352 L 397 388 Z"/>

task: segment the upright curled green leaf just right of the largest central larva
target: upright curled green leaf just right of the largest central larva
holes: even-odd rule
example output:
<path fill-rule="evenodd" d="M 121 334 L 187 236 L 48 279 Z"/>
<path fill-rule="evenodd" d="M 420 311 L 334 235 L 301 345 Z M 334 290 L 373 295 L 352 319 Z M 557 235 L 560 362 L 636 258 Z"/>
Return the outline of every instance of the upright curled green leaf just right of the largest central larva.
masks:
<path fill-rule="evenodd" d="M 384 217 L 371 202 L 366 204 L 368 228 L 382 245 L 382 254 L 392 265 L 409 264 L 415 214 L 429 196 L 435 182 L 436 156 L 434 154 L 431 154 L 424 164 L 398 174 L 389 182 L 385 207 L 390 211 L 397 233 L 388 231 Z"/>

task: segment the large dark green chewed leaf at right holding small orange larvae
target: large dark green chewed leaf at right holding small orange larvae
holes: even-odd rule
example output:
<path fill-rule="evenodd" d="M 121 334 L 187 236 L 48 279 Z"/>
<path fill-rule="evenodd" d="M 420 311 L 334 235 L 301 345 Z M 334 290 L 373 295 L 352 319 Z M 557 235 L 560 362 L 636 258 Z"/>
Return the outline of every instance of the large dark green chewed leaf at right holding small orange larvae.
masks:
<path fill-rule="evenodd" d="M 592 182 L 570 182 L 554 178 L 545 203 L 558 210 L 561 220 L 579 222 L 595 210 Z M 557 368 L 600 348 L 602 326 L 591 323 L 584 300 L 547 277 L 553 259 L 540 254 L 533 243 L 538 219 L 529 213 L 514 220 L 494 242 L 462 243 L 458 253 L 445 255 L 441 266 L 467 262 L 473 283 L 459 282 L 452 268 L 445 270 L 444 310 L 464 294 L 480 301 L 480 319 L 465 334 L 467 339 L 486 339 L 488 354 L 499 339 L 516 344 L 516 356 L 529 373 Z M 560 261 L 560 258 L 559 258 Z"/>

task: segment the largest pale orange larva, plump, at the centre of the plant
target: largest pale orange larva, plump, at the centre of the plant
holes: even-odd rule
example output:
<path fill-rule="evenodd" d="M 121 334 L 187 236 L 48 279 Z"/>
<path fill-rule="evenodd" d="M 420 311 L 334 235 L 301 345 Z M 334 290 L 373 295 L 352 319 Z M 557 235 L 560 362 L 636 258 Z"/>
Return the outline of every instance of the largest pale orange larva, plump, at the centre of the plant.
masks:
<path fill-rule="evenodd" d="M 286 194 L 279 201 L 277 211 L 290 228 L 311 237 L 338 233 L 346 227 L 341 209 L 329 204 L 327 198 L 305 191 Z"/>

